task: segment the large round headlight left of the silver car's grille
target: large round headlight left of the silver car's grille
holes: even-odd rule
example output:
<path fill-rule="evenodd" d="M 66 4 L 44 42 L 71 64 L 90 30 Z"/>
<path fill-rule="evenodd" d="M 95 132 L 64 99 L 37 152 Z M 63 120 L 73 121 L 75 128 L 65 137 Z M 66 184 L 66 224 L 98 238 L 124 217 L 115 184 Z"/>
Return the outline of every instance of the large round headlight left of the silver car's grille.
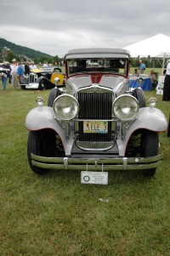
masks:
<path fill-rule="evenodd" d="M 71 120 L 77 116 L 79 105 L 71 95 L 60 95 L 54 100 L 54 112 L 62 120 Z"/>

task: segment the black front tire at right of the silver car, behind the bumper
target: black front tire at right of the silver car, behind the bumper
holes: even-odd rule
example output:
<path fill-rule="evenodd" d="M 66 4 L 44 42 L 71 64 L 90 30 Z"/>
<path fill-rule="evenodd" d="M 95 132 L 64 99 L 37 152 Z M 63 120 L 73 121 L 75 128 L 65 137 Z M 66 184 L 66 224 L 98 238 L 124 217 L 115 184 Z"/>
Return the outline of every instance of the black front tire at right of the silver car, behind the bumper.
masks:
<path fill-rule="evenodd" d="M 157 156 L 159 151 L 159 134 L 144 130 L 141 134 L 141 156 Z M 156 168 L 146 169 L 143 171 L 145 176 L 153 176 Z"/>

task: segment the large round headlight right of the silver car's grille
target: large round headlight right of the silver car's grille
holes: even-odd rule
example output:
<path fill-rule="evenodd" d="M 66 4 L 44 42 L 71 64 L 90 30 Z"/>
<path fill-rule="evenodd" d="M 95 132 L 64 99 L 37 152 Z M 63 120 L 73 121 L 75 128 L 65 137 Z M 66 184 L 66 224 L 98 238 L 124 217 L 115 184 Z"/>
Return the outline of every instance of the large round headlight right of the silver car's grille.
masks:
<path fill-rule="evenodd" d="M 118 119 L 128 121 L 138 114 L 139 102 L 132 95 L 121 95 L 113 102 L 112 111 Z"/>

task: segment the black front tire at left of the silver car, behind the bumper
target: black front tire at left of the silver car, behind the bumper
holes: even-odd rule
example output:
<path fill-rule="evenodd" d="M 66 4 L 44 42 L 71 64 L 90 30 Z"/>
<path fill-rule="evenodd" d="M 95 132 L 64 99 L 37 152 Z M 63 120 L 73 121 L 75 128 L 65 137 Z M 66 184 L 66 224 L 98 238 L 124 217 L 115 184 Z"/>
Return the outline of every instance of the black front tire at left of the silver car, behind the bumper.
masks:
<path fill-rule="evenodd" d="M 37 156 L 56 156 L 56 134 L 54 130 L 44 129 L 40 131 L 30 131 L 27 140 L 27 156 L 31 170 L 36 174 L 45 174 L 48 169 L 33 166 L 31 163 L 31 153 Z"/>

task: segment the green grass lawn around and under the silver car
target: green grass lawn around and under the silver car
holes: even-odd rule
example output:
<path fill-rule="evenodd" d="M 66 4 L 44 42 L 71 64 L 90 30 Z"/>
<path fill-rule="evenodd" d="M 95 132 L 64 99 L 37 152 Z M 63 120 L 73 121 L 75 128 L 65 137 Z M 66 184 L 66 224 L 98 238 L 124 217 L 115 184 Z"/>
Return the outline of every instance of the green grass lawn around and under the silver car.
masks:
<path fill-rule="evenodd" d="M 37 96 L 47 105 L 48 94 L 0 88 L 0 255 L 169 255 L 167 132 L 160 134 L 164 161 L 152 179 L 114 171 L 108 185 L 82 185 L 79 171 L 37 176 L 27 162 L 25 120 Z M 169 117 L 170 102 L 156 90 L 144 94 L 156 96 Z"/>

